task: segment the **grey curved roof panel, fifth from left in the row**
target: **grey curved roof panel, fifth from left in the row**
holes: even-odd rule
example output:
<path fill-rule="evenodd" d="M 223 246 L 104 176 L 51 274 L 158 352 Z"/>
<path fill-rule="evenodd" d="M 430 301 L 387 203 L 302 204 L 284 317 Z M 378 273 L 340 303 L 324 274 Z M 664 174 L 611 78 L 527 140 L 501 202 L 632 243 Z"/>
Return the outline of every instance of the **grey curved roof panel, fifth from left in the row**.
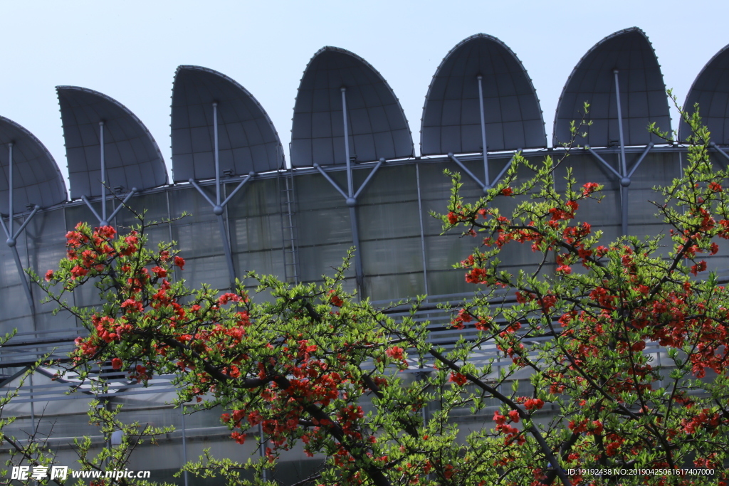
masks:
<path fill-rule="evenodd" d="M 456 44 L 433 75 L 423 107 L 421 154 L 483 151 L 479 75 L 488 151 L 546 147 L 542 109 L 521 60 L 496 37 L 476 34 Z"/>

